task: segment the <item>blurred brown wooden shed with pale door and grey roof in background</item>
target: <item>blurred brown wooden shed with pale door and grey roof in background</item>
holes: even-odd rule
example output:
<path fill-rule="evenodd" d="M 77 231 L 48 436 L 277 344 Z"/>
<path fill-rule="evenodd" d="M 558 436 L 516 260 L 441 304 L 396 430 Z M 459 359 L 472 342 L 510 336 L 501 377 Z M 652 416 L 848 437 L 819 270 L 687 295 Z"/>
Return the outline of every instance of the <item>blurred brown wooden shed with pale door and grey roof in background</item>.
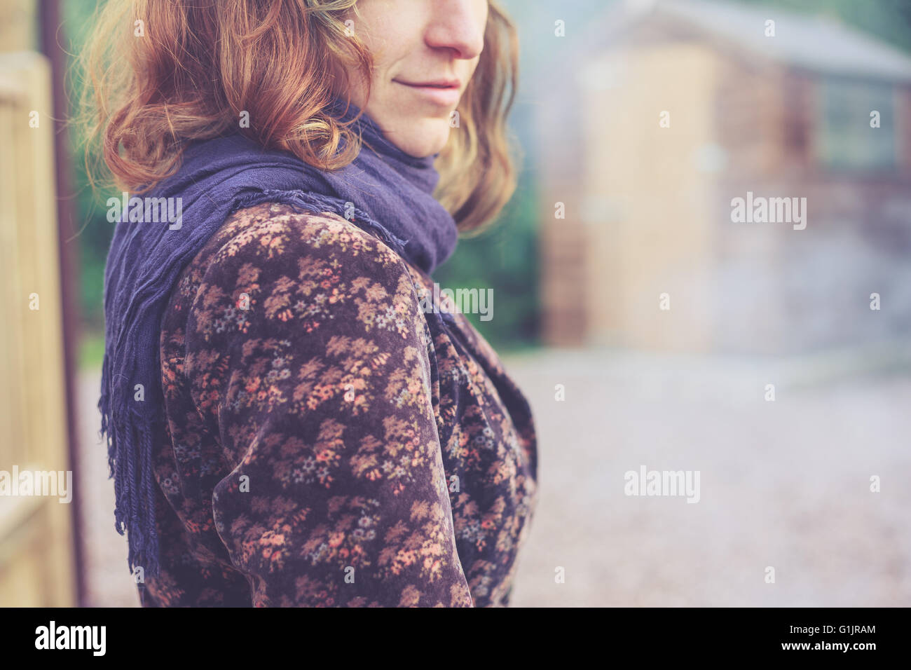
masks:
<path fill-rule="evenodd" d="M 537 92 L 548 344 L 793 353 L 911 334 L 911 57 L 771 6 L 592 19 Z M 796 210 L 733 222 L 736 198 L 796 198 L 773 201 L 779 218 L 805 198 L 805 228 Z"/>

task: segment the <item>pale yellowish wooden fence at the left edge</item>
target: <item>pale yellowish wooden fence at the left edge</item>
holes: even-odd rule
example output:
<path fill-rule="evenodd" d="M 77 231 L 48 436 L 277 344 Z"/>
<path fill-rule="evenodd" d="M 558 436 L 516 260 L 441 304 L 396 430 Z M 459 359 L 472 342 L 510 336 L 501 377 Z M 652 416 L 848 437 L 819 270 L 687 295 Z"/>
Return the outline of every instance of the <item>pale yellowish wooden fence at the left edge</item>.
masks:
<path fill-rule="evenodd" d="M 11 481 L 72 470 L 51 110 L 46 58 L 0 54 L 0 606 L 76 603 L 70 504 Z"/>

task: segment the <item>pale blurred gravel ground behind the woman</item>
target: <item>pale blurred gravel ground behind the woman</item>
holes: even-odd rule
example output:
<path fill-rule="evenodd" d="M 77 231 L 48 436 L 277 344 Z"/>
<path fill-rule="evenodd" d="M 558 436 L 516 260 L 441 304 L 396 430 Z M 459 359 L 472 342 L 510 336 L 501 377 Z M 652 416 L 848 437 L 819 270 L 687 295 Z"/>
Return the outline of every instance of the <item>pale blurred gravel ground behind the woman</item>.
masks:
<path fill-rule="evenodd" d="M 505 362 L 539 438 L 514 606 L 911 605 L 906 366 L 599 350 Z M 80 387 L 89 603 L 135 605 L 97 371 Z M 626 495 L 625 473 L 643 466 L 698 470 L 700 500 Z"/>

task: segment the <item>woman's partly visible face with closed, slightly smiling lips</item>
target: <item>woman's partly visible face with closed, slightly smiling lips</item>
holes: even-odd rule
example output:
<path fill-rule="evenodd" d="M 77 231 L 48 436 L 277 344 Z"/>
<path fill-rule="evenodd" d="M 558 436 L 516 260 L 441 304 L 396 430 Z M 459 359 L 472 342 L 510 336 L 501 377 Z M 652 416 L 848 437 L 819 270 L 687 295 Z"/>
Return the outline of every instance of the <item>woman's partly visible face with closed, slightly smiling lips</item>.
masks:
<path fill-rule="evenodd" d="M 487 0 L 359 0 L 354 34 L 374 57 L 370 98 L 352 101 L 415 157 L 443 149 L 450 117 L 484 48 Z"/>

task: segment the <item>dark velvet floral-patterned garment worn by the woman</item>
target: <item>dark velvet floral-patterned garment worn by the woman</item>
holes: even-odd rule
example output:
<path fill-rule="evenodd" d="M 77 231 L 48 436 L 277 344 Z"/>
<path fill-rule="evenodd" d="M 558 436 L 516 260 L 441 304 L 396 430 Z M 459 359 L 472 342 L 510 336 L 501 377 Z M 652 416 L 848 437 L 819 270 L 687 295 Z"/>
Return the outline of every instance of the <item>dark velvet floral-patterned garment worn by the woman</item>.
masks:
<path fill-rule="evenodd" d="M 532 416 L 433 288 L 334 214 L 230 216 L 162 321 L 161 572 L 143 606 L 508 603 L 537 500 Z"/>

